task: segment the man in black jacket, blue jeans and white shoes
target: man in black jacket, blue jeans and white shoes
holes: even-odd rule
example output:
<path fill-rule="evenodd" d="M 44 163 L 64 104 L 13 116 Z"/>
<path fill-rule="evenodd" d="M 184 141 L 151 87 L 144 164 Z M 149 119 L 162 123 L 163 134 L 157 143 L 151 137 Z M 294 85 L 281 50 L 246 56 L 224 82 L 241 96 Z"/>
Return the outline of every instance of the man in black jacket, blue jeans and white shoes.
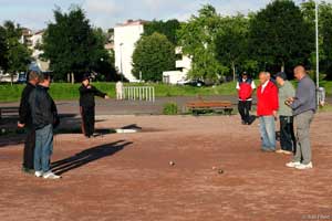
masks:
<path fill-rule="evenodd" d="M 32 123 L 35 128 L 34 175 L 44 179 L 59 179 L 50 169 L 53 152 L 53 126 L 59 124 L 56 106 L 48 93 L 51 84 L 49 74 L 41 74 L 39 84 L 29 97 Z"/>

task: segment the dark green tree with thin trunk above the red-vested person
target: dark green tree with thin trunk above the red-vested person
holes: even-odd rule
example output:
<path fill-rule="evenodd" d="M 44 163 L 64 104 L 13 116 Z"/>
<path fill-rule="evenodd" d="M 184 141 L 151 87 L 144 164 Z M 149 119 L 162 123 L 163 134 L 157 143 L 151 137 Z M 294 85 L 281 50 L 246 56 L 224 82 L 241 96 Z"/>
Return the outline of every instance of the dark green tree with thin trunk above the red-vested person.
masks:
<path fill-rule="evenodd" d="M 216 38 L 216 51 L 219 61 L 232 70 L 236 81 L 236 65 L 246 65 L 248 60 L 249 20 L 238 14 L 222 18 L 220 31 Z"/>

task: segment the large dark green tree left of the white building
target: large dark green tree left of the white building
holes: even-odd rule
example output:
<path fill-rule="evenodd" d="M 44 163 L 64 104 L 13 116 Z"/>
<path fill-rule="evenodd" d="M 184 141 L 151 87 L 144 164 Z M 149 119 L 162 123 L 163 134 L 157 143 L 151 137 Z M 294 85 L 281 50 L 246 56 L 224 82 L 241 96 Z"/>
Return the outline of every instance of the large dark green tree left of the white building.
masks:
<path fill-rule="evenodd" d="M 56 80 L 65 80 L 74 73 L 75 80 L 97 69 L 107 61 L 107 52 L 101 35 L 97 35 L 84 11 L 72 7 L 68 13 L 54 10 L 54 23 L 50 23 L 43 38 L 43 57 L 50 61 L 50 69 Z"/>

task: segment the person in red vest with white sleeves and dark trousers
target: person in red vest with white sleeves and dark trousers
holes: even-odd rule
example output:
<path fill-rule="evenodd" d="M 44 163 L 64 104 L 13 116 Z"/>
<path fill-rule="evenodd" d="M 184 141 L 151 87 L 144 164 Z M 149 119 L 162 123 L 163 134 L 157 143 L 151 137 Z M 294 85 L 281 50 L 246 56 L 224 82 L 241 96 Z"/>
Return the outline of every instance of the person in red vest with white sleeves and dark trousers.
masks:
<path fill-rule="evenodd" d="M 249 125 L 252 123 L 250 118 L 250 109 L 252 104 L 252 92 L 256 88 L 255 82 L 248 76 L 246 72 L 241 74 L 237 83 L 237 90 L 239 95 L 238 109 L 241 115 L 242 124 Z"/>

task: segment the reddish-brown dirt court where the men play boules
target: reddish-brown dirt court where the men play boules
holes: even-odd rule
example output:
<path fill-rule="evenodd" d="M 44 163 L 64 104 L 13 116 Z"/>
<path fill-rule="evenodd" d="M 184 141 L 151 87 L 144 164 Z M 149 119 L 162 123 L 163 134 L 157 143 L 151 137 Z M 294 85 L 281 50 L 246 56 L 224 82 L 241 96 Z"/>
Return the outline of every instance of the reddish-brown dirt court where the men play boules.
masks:
<path fill-rule="evenodd" d="M 258 122 L 242 126 L 238 116 L 101 117 L 98 128 L 143 131 L 56 135 L 61 180 L 23 175 L 21 140 L 0 137 L 0 220 L 332 220 L 331 123 L 332 114 L 315 116 L 307 171 L 261 152 Z"/>

